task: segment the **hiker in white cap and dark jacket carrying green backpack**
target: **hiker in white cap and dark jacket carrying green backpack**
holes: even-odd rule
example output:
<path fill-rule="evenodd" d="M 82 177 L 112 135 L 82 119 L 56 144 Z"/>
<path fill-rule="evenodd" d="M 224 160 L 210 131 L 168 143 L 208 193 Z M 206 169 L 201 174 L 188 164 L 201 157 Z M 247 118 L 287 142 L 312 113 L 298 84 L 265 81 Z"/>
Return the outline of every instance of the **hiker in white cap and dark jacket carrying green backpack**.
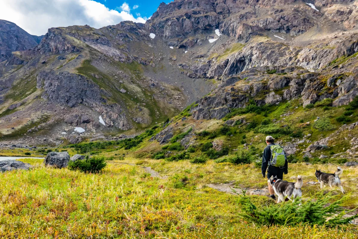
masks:
<path fill-rule="evenodd" d="M 261 173 L 265 177 L 267 169 L 267 178 L 271 176 L 282 180 L 283 174 L 287 174 L 287 157 L 284 149 L 275 144 L 275 139 L 272 136 L 266 136 L 266 148 L 263 150 Z M 267 167 L 267 164 L 269 167 Z M 274 188 L 269 185 L 270 197 L 276 200 Z"/>

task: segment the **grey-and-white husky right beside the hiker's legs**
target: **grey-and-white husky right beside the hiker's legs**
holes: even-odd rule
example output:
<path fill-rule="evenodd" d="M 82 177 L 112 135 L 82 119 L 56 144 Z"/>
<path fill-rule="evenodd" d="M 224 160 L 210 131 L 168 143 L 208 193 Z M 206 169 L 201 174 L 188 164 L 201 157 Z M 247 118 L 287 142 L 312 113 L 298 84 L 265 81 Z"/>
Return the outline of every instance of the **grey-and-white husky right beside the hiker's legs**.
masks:
<path fill-rule="evenodd" d="M 295 200 L 296 197 L 302 197 L 301 187 L 303 185 L 302 176 L 297 176 L 297 182 L 287 182 L 283 181 L 282 179 L 279 179 L 274 176 L 271 176 L 271 178 L 268 180 L 270 185 L 274 188 L 275 193 L 279 197 L 277 199 L 277 203 L 280 203 L 281 201 L 285 201 L 285 197 L 289 200 L 292 200 L 291 197 L 293 197 L 293 200 Z"/>

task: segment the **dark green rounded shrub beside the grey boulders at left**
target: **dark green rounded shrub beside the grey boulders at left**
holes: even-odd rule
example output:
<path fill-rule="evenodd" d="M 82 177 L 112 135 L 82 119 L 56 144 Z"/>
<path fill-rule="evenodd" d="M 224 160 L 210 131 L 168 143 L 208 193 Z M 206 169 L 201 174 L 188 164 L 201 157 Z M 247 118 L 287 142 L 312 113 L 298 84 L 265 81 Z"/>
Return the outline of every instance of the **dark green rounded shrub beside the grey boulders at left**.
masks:
<path fill-rule="evenodd" d="M 106 158 L 105 157 L 92 157 L 89 158 L 88 156 L 82 160 L 76 161 L 69 161 L 68 169 L 72 171 L 79 170 L 84 173 L 98 173 L 104 167 L 106 167 Z"/>

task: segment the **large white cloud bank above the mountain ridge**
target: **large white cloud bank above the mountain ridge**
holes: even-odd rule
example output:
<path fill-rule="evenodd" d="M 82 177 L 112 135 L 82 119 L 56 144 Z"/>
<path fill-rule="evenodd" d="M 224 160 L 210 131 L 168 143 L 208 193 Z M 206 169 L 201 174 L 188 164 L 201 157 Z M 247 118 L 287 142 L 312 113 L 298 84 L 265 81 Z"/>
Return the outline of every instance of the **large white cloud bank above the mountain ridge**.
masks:
<path fill-rule="evenodd" d="M 33 35 L 43 35 L 52 27 L 88 24 L 101 28 L 127 20 L 145 23 L 146 18 L 135 18 L 125 4 L 117 11 L 92 0 L 0 0 L 0 19 Z"/>

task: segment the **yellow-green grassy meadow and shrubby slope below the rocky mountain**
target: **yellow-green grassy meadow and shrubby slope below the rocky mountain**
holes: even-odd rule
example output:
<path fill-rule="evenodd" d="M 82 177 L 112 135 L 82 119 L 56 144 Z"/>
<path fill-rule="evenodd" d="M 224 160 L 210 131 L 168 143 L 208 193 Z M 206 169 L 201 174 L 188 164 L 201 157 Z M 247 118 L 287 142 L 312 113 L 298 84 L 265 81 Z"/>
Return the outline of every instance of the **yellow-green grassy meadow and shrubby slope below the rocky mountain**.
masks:
<path fill-rule="evenodd" d="M 194 120 L 189 114 L 192 105 L 131 139 L 28 152 L 1 150 L 8 156 L 67 151 L 88 157 L 62 169 L 45 167 L 42 159 L 26 159 L 32 169 L 2 173 L 0 237 L 357 238 L 357 226 L 349 221 L 356 217 L 358 169 L 343 165 L 353 160 L 349 155 L 333 156 L 345 155 L 350 148 L 346 137 L 357 131 L 348 130 L 337 118 L 349 111 L 344 115 L 347 121 L 358 121 L 357 107 L 354 101 L 349 106 L 325 106 L 322 102 L 307 109 L 298 100 L 260 107 L 249 102 L 248 109 L 232 111 L 223 120 Z M 229 126 L 229 119 L 239 123 Z M 272 119 L 281 122 L 274 124 Z M 160 145 L 153 137 L 167 127 L 173 127 L 173 137 Z M 301 201 L 276 204 L 265 193 L 250 195 L 248 191 L 267 187 L 261 176 L 266 134 L 282 144 L 302 138 L 314 142 L 340 128 L 335 135 L 339 144 L 311 152 L 309 158 L 302 153 L 309 146 L 305 141 L 289 156 L 284 180 L 303 176 Z M 181 143 L 186 138 L 195 139 L 187 149 Z M 216 141 L 222 142 L 219 150 Z M 328 157 L 319 158 L 321 154 Z M 316 168 L 333 173 L 338 165 L 345 195 L 308 183 L 317 181 Z M 231 183 L 232 192 L 210 187 L 221 183 Z"/>

